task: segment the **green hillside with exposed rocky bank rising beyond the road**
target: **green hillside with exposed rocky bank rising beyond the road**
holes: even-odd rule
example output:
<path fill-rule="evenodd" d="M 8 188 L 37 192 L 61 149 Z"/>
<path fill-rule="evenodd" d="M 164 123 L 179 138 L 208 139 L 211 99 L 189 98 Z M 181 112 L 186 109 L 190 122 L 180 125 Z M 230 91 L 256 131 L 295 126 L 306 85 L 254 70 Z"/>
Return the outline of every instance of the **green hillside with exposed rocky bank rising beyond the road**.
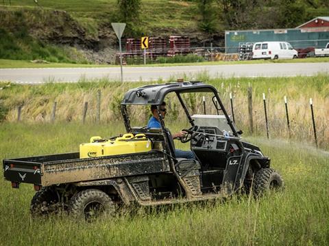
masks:
<path fill-rule="evenodd" d="M 210 5 L 203 8 L 197 0 L 143 0 L 138 18 L 128 22 L 123 39 L 189 36 L 193 46 L 210 42 L 223 46 L 226 29 L 295 27 L 329 12 L 328 4 L 321 1 L 298 0 L 291 5 L 281 1 L 255 1 L 252 6 L 248 1 L 239 6 L 208 1 Z M 123 18 L 117 0 L 10 2 L 0 5 L 0 59 L 113 61 L 117 38 L 110 23 Z"/>

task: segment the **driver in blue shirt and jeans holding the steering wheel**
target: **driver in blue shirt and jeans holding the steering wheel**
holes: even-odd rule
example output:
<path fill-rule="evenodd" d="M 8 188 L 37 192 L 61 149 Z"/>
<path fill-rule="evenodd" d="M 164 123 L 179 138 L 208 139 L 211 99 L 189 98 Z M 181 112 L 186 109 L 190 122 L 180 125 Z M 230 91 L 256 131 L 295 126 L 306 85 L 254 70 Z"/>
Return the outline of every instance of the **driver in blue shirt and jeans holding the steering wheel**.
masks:
<path fill-rule="evenodd" d="M 151 105 L 151 113 L 153 116 L 149 119 L 147 123 L 147 127 L 149 128 L 161 128 L 161 124 L 159 121 L 158 111 L 156 110 L 156 105 Z M 164 119 L 167 114 L 166 102 L 162 102 L 160 105 L 160 113 L 162 118 Z M 186 135 L 186 131 L 180 131 L 178 133 L 173 134 L 173 139 L 178 139 L 180 137 L 184 137 Z M 191 150 L 177 150 L 175 149 L 176 158 L 185 158 L 185 159 L 195 159 L 195 155 Z"/>

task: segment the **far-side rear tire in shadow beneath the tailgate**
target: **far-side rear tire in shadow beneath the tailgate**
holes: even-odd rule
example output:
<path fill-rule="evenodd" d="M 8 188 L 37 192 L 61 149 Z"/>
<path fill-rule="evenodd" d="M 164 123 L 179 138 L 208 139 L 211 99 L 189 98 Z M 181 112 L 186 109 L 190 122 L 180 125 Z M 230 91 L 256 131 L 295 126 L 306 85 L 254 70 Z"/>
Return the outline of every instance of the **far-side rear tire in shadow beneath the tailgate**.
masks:
<path fill-rule="evenodd" d="M 34 194 L 29 212 L 32 216 L 49 215 L 58 212 L 58 195 L 51 187 L 44 187 Z"/>

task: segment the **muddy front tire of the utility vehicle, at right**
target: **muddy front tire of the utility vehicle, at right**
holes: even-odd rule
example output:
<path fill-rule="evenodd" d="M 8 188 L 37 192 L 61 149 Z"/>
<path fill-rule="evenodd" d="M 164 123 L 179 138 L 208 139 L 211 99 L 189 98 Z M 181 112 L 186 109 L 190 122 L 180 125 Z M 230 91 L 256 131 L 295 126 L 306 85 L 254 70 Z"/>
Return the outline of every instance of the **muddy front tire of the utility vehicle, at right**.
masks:
<path fill-rule="evenodd" d="M 280 174 L 271 168 L 262 168 L 256 172 L 253 182 L 253 191 L 256 197 L 273 189 L 282 189 L 284 181 Z"/>

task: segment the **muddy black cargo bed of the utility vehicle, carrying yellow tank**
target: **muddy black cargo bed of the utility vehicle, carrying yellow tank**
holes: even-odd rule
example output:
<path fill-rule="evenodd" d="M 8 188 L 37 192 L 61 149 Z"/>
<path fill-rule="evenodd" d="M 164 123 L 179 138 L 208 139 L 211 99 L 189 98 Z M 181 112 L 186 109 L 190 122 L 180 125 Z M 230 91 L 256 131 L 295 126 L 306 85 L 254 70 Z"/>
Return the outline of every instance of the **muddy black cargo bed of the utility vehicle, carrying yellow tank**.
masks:
<path fill-rule="evenodd" d="M 152 165 L 150 165 L 152 163 Z M 3 160 L 4 176 L 12 183 L 41 186 L 138 174 L 169 172 L 164 153 L 149 152 L 120 154 L 80 159 L 79 152 L 32 156 Z"/>

